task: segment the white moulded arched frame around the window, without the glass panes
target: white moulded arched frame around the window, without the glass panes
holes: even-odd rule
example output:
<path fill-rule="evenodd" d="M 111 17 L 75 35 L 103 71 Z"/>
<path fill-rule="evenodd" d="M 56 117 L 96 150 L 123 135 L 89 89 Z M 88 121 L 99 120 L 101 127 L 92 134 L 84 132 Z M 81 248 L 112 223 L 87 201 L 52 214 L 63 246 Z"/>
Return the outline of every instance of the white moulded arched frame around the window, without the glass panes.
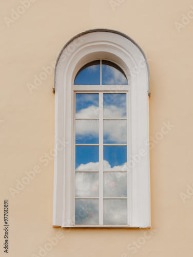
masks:
<path fill-rule="evenodd" d="M 120 66 L 129 82 L 129 85 L 108 85 L 108 90 L 113 93 L 116 90 L 118 93 L 128 91 L 130 94 L 130 144 L 127 158 L 130 160 L 129 225 L 112 227 L 149 228 L 148 64 L 142 49 L 128 36 L 103 29 L 90 30 L 75 36 L 64 46 L 56 62 L 53 226 L 77 227 L 74 226 L 74 91 L 105 91 L 107 86 L 73 85 L 73 81 L 81 67 L 99 59 Z M 57 142 L 61 141 L 64 147 L 59 149 Z M 140 161 L 134 162 L 137 155 L 140 155 Z"/>

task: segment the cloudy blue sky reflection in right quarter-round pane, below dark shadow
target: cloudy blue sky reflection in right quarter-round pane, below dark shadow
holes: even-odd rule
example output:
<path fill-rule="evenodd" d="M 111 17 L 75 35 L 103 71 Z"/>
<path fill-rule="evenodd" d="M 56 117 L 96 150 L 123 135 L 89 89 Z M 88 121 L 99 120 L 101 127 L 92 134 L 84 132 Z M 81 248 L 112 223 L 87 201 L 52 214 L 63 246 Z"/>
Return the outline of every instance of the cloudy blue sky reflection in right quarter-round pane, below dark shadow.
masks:
<path fill-rule="evenodd" d="M 118 69 L 115 69 L 111 66 L 106 66 L 106 70 L 104 72 L 104 84 L 106 85 L 127 85 L 127 79 L 122 74 L 122 72 Z"/>

